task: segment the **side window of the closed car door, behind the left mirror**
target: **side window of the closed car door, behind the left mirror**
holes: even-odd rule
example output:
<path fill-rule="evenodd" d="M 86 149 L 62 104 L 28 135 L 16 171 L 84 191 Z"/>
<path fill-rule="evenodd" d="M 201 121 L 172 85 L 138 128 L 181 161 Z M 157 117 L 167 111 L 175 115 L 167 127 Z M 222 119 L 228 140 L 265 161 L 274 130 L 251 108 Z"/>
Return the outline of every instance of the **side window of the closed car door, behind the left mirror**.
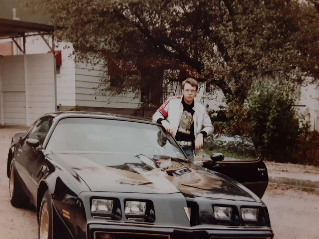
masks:
<path fill-rule="evenodd" d="M 30 131 L 28 138 L 39 140 L 42 145 L 49 129 L 51 128 L 53 120 L 53 117 L 44 117 L 38 120 L 33 129 Z"/>

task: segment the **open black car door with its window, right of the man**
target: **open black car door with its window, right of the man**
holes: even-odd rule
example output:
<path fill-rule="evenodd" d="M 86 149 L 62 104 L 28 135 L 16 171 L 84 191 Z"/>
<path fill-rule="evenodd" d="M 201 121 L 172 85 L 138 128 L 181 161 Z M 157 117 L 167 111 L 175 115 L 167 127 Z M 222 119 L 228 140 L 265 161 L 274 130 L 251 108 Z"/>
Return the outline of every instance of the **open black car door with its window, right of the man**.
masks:
<path fill-rule="evenodd" d="M 221 153 L 224 159 L 219 161 L 222 158 L 212 156 L 212 161 L 204 159 L 203 166 L 233 178 L 262 198 L 268 185 L 268 173 L 266 165 L 256 156 L 253 142 L 247 137 L 226 134 L 213 134 L 207 141 L 208 153 L 215 153 L 215 156 Z"/>

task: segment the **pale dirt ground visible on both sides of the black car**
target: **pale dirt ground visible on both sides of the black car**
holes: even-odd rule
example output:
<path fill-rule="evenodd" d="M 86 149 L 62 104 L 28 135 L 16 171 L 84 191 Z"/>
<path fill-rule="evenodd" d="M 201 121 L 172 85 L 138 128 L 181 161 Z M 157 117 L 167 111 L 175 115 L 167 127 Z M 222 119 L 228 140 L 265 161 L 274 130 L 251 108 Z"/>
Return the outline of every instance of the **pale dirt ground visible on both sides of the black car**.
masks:
<path fill-rule="evenodd" d="M 24 129 L 0 126 L 0 239 L 38 238 L 35 207 L 18 209 L 11 206 L 9 201 L 9 179 L 6 175 L 7 154 L 13 132 Z M 268 165 L 270 164 L 267 164 L 267 167 Z M 269 167 L 277 170 L 293 170 L 294 168 L 276 164 L 271 164 Z M 301 165 L 300 170 L 317 172 L 317 168 Z M 318 191 L 269 184 L 262 200 L 268 207 L 275 239 L 319 239 Z"/>

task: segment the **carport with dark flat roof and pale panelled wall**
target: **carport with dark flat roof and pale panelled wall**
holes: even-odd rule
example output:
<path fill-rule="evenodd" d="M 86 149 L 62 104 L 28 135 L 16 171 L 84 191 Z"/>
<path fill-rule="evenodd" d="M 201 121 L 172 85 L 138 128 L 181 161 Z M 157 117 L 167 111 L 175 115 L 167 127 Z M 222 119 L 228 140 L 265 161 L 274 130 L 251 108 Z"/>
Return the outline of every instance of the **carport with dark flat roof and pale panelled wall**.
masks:
<path fill-rule="evenodd" d="M 0 39 L 12 39 L 22 54 L 0 56 L 0 123 L 31 125 L 56 111 L 54 26 L 0 18 Z M 52 38 L 50 46 L 44 37 Z M 50 53 L 26 54 L 26 37 L 40 36 Z M 22 39 L 19 45 L 17 39 Z"/>

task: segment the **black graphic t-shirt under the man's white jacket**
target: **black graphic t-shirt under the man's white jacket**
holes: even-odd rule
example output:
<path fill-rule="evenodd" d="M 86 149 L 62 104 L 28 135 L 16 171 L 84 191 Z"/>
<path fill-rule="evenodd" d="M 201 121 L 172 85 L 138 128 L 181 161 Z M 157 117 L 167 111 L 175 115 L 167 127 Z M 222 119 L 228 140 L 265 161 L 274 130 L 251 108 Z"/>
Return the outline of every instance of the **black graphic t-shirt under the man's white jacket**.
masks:
<path fill-rule="evenodd" d="M 188 105 L 184 101 L 184 97 L 182 98 L 183 104 L 183 113 L 182 117 L 177 129 L 177 133 L 175 135 L 175 139 L 177 141 L 192 141 L 194 145 L 195 136 L 194 136 L 194 101 L 191 105 Z"/>

